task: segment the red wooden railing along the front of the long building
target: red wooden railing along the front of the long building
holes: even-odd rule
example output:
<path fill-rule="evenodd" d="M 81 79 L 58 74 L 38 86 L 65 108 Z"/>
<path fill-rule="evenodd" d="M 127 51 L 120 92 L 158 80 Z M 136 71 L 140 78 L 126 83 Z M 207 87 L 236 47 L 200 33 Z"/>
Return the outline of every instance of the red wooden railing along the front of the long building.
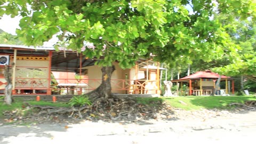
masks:
<path fill-rule="evenodd" d="M 17 94 L 46 94 L 46 78 L 16 78 Z M 56 82 L 60 83 L 56 83 Z M 55 79 L 51 82 L 52 94 L 84 94 L 101 84 L 101 79 Z M 156 81 L 111 79 L 113 93 L 154 94 L 157 93 Z"/>

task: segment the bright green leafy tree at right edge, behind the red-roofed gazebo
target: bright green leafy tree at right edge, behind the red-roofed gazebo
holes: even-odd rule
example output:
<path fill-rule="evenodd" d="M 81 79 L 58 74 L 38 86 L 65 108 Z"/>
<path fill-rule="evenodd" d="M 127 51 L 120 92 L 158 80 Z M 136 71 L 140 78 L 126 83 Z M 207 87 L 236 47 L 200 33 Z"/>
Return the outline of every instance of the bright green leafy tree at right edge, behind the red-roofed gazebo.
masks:
<path fill-rule="evenodd" d="M 233 22 L 224 20 L 225 15 L 220 17 L 220 21 L 226 23 L 225 29 L 232 41 L 238 46 L 235 60 L 229 65 L 216 68 L 218 71 L 231 76 L 245 76 L 256 82 L 256 22 L 255 20 L 236 19 Z"/>

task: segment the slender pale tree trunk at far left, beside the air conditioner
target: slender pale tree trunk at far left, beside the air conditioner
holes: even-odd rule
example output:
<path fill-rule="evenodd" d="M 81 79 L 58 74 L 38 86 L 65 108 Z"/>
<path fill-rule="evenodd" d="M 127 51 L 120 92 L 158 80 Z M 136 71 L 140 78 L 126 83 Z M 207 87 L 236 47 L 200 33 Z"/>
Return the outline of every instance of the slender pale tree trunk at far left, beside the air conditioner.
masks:
<path fill-rule="evenodd" d="M 14 63 L 13 63 L 14 65 Z M 12 72 L 10 66 L 5 65 L 4 67 L 4 78 L 7 81 L 7 85 L 5 86 L 5 98 L 4 101 L 7 105 L 11 105 L 12 103 Z"/>

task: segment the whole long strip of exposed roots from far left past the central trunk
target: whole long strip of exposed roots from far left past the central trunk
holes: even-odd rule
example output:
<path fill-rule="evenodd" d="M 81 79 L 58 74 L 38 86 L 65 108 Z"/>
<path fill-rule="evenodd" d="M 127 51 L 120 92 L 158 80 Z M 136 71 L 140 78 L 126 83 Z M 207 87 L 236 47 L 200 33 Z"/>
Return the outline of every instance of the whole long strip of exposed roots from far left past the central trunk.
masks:
<path fill-rule="evenodd" d="M 172 109 L 166 108 L 167 105 L 159 101 L 152 101 L 150 105 L 138 103 L 136 98 L 131 97 L 112 97 L 109 99 L 98 98 L 95 99 L 91 106 L 82 107 L 52 107 L 52 106 L 38 106 L 24 104 L 24 108 L 30 109 L 31 113 L 26 116 L 20 116 L 18 113 L 9 111 L 6 113 L 7 117 L 18 120 L 27 119 L 29 121 L 40 119 L 55 119 L 60 116 L 65 119 L 85 118 L 92 121 L 126 121 L 136 122 L 147 119 L 157 119 L 170 117 L 173 114 Z M 10 114 L 10 115 L 9 115 Z M 71 120 L 73 122 L 73 120 Z"/>

